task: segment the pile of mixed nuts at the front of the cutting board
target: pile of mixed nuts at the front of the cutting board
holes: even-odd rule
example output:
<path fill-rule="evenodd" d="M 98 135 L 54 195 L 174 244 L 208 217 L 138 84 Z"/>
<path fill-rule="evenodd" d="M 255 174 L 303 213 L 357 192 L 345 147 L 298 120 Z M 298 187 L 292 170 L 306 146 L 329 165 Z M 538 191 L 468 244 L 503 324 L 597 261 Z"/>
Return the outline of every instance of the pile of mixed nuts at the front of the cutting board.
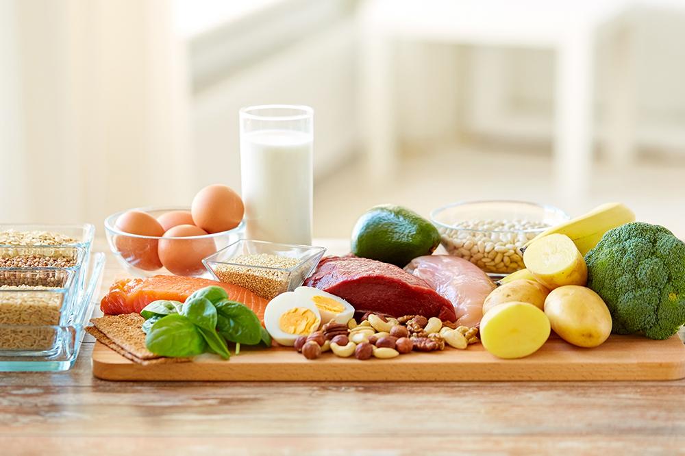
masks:
<path fill-rule="evenodd" d="M 320 331 L 297 338 L 295 349 L 307 359 L 316 359 L 326 351 L 342 358 L 390 359 L 411 351 L 444 350 L 445 344 L 463 350 L 479 342 L 477 328 L 458 327 L 436 317 L 369 314 L 364 318 L 360 323 L 354 318 L 347 324 L 329 322 Z"/>

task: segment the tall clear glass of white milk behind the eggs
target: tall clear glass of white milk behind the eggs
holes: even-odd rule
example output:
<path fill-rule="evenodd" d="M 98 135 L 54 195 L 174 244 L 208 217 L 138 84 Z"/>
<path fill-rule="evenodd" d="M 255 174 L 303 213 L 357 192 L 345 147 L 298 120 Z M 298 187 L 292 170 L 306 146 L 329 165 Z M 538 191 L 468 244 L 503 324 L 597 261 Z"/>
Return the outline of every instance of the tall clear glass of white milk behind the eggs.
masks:
<path fill-rule="evenodd" d="M 314 110 L 240 110 L 240 170 L 247 238 L 312 244 Z"/>

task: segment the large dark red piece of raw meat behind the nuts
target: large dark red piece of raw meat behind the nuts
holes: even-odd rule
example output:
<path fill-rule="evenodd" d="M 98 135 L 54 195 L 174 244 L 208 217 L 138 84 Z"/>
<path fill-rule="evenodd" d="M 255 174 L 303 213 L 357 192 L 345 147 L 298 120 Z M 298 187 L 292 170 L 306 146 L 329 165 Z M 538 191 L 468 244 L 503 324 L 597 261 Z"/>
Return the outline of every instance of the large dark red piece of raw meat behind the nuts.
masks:
<path fill-rule="evenodd" d="M 423 279 L 373 259 L 325 257 L 304 284 L 340 296 L 357 312 L 456 320 L 453 305 Z"/>

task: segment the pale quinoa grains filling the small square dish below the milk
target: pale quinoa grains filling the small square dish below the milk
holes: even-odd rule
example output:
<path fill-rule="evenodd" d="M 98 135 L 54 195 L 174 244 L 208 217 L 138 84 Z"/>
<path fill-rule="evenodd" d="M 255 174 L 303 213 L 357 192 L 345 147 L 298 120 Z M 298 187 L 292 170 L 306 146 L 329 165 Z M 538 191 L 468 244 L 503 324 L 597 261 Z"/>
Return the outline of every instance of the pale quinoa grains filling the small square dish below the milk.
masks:
<path fill-rule="evenodd" d="M 231 262 L 234 264 L 219 264 L 214 268 L 214 273 L 220 281 L 247 288 L 264 299 L 273 299 L 278 294 L 288 291 L 291 273 L 265 268 L 290 269 L 297 266 L 299 260 L 257 253 L 234 257 Z M 243 264 L 245 266 L 238 266 Z"/>

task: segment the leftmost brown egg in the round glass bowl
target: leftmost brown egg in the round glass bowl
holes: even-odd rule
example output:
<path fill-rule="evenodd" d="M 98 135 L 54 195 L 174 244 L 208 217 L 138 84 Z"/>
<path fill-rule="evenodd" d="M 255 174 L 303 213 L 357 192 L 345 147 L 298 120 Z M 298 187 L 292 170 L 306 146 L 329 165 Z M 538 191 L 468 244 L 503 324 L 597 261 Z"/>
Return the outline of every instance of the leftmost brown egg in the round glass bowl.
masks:
<path fill-rule="evenodd" d="M 119 231 L 140 236 L 162 236 L 164 228 L 150 214 L 140 211 L 124 212 L 116 219 L 114 225 Z M 162 267 L 158 256 L 156 239 L 141 239 L 132 236 L 117 235 L 114 238 L 116 250 L 131 266 L 142 270 L 157 270 Z"/>

